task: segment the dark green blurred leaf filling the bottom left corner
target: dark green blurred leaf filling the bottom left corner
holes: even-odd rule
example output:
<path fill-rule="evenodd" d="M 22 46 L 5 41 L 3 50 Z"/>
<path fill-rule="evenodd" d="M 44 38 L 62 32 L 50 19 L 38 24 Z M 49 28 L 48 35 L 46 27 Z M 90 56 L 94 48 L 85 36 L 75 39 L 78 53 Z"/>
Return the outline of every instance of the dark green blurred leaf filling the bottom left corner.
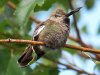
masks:
<path fill-rule="evenodd" d="M 0 75 L 5 75 L 10 58 L 10 50 L 0 46 Z"/>

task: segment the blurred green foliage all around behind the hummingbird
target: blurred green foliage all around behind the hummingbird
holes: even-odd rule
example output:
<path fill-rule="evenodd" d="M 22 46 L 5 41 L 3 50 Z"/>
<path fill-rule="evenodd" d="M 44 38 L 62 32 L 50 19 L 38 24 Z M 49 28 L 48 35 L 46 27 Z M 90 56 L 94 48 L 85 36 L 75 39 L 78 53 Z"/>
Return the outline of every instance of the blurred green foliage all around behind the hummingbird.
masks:
<path fill-rule="evenodd" d="M 16 10 L 7 4 L 8 0 L 0 0 L 0 39 L 31 39 L 29 32 L 31 30 L 32 21 L 29 20 L 29 16 L 32 15 L 34 11 L 48 10 L 55 3 L 69 10 L 68 0 L 10 1 L 16 5 Z M 77 3 L 78 0 L 74 2 Z M 94 2 L 95 0 L 86 0 L 86 7 L 88 9 L 92 8 Z M 77 15 L 77 19 L 80 18 L 79 14 Z M 82 31 L 87 32 L 86 26 L 82 28 Z M 98 33 L 100 33 L 100 31 Z M 58 75 L 59 68 L 57 67 L 57 63 L 52 63 L 53 65 L 50 65 L 51 61 L 42 61 L 42 64 L 38 64 L 34 69 L 29 66 L 26 68 L 19 67 L 17 59 L 25 46 L 26 45 L 23 44 L 0 43 L 0 75 Z M 67 48 L 63 49 L 71 54 L 76 54 L 74 50 Z M 61 57 L 61 51 L 52 51 L 47 53 L 46 56 L 49 59 L 58 61 Z M 45 65 L 45 63 L 49 65 Z"/>

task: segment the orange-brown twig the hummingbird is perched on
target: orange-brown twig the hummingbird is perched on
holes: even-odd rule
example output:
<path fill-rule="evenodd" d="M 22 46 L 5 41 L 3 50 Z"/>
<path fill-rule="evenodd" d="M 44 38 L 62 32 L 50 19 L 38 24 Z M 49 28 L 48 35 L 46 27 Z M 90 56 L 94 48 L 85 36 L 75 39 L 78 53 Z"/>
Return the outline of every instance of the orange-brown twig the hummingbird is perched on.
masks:
<path fill-rule="evenodd" d="M 0 43 L 27 43 L 27 44 L 32 44 L 32 45 L 45 45 L 46 44 L 44 42 L 21 40 L 21 39 L 3 39 L 3 40 L 0 40 Z M 84 47 L 73 46 L 73 45 L 69 45 L 69 44 L 65 44 L 64 47 L 71 48 L 73 50 L 79 50 L 79 51 L 84 51 L 84 52 L 100 54 L 100 50 L 95 50 L 95 49 L 91 49 L 91 48 L 84 48 Z"/>

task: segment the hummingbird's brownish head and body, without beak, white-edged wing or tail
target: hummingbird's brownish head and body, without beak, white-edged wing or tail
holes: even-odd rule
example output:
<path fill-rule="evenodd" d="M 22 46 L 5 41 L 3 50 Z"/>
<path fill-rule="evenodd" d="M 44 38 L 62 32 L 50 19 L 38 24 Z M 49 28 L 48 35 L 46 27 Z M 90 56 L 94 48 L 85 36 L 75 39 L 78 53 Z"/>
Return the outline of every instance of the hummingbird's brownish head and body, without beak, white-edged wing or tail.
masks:
<path fill-rule="evenodd" d="M 49 48 L 60 48 L 66 43 L 70 31 L 70 20 L 62 9 L 56 10 L 48 20 L 37 26 L 35 31 L 41 26 L 45 27 L 33 37 L 36 38 L 34 40 L 46 42 Z"/>

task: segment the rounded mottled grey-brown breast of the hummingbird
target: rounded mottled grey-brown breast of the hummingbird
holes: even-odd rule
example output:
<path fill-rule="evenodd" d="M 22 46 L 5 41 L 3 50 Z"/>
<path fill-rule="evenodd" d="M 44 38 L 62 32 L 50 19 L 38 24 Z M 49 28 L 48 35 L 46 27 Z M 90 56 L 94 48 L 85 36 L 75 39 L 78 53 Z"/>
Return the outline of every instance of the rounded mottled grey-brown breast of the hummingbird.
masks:
<path fill-rule="evenodd" d="M 62 29 L 60 26 L 50 25 L 44 28 L 39 34 L 39 41 L 46 43 L 47 47 L 50 48 L 60 48 L 62 47 L 67 40 L 66 29 Z"/>

